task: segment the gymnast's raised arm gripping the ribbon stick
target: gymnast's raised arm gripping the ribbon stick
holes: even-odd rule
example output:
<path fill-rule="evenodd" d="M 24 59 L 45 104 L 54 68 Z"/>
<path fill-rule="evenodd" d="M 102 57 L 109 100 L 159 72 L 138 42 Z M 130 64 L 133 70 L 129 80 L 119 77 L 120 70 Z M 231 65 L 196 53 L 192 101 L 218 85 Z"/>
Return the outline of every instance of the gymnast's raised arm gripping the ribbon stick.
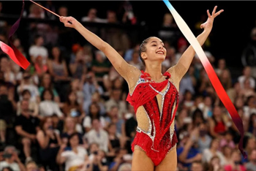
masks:
<path fill-rule="evenodd" d="M 108 57 L 111 64 L 115 67 L 116 71 L 124 77 L 125 80 L 129 83 L 129 75 L 128 71 L 132 69 L 133 77 L 136 77 L 136 75 L 140 75 L 140 70 L 136 69 L 134 66 L 129 65 L 123 57 L 119 55 L 119 53 L 113 49 L 107 42 L 100 39 L 96 34 L 92 33 L 88 29 L 86 29 L 81 23 L 78 22 L 78 20 L 75 20 L 75 18 L 72 17 L 61 17 L 61 22 L 64 23 L 64 26 L 75 28 L 88 42 L 91 43 L 91 45 L 94 45 L 94 47 L 97 47 L 99 50 L 101 50 L 103 53 L 105 53 L 105 56 Z M 68 21 L 71 21 L 72 24 L 68 23 Z"/>

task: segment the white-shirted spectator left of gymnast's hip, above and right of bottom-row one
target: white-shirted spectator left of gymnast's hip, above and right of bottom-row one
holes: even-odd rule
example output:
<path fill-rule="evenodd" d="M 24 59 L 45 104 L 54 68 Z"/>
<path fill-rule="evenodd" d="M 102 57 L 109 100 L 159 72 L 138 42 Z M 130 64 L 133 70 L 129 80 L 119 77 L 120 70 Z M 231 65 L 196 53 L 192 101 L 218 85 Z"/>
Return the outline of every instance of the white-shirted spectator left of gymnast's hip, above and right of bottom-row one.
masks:
<path fill-rule="evenodd" d="M 89 145 L 92 142 L 96 142 L 99 144 L 99 149 L 108 152 L 108 132 L 101 128 L 99 119 L 94 118 L 92 120 L 92 128 L 91 131 L 84 135 Z"/>

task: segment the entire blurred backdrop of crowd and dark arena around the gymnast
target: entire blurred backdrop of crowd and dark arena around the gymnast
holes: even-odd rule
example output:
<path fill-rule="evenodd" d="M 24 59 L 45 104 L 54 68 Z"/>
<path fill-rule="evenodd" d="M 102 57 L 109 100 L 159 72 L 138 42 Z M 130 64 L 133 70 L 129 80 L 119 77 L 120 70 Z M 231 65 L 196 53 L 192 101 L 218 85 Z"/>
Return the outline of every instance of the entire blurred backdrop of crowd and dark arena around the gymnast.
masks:
<path fill-rule="evenodd" d="M 143 39 L 165 42 L 162 72 L 177 63 L 189 43 L 162 1 L 37 1 L 72 16 L 144 69 Z M 172 1 L 189 28 L 217 5 L 224 9 L 203 45 L 208 60 L 244 122 L 239 132 L 219 101 L 197 55 L 180 83 L 176 113 L 177 170 L 256 170 L 256 3 Z M 0 40 L 20 15 L 22 1 L 0 1 Z M 73 28 L 30 1 L 13 44 L 31 62 L 23 70 L 0 51 L 0 170 L 131 170 L 136 134 L 128 86 L 104 53 Z"/>

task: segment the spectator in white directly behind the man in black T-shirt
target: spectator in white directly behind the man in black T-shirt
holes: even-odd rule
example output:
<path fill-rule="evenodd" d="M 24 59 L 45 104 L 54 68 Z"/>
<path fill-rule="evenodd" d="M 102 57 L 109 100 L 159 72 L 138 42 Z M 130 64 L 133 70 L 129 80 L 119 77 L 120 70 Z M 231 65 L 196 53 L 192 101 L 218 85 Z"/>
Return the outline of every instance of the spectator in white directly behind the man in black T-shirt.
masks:
<path fill-rule="evenodd" d="M 21 93 L 22 99 L 20 100 L 20 102 L 22 100 L 26 100 L 29 102 L 29 110 L 31 112 L 31 115 L 34 117 L 38 116 L 39 113 L 39 109 L 38 109 L 38 104 L 36 102 L 31 101 L 31 93 L 29 90 L 24 90 Z M 21 108 L 20 108 L 20 102 L 17 103 L 17 115 L 20 115 L 21 113 Z"/>

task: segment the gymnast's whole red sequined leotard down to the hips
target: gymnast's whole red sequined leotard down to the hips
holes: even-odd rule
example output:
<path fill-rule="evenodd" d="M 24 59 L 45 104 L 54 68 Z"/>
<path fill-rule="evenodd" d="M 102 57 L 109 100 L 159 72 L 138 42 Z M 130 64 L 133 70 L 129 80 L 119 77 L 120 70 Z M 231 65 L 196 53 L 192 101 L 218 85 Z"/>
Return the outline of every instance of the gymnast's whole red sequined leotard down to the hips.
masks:
<path fill-rule="evenodd" d="M 132 142 L 132 151 L 135 145 L 140 146 L 147 156 L 157 166 L 167 153 L 178 142 L 174 131 L 174 118 L 178 106 L 178 91 L 168 79 L 170 73 L 165 72 L 166 80 L 161 83 L 151 82 L 148 73 L 143 72 L 132 94 L 127 101 L 135 108 L 143 106 L 149 121 L 148 130 L 137 128 L 135 139 Z M 165 89 L 165 91 L 163 91 Z M 162 92 L 163 91 L 163 92 Z M 162 106 L 159 107 L 157 94 L 162 95 Z"/>

